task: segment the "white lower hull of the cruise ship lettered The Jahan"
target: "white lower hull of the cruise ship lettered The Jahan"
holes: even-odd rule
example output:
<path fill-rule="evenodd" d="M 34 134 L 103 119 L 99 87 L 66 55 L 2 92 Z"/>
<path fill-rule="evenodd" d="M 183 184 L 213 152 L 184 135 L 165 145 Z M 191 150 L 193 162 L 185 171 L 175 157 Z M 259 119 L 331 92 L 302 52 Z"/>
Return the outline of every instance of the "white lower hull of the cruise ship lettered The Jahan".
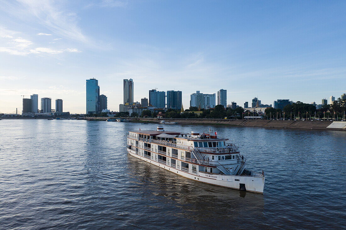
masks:
<path fill-rule="evenodd" d="M 127 148 L 127 151 L 131 156 L 137 157 L 140 160 L 154 164 L 167 171 L 171 171 L 175 174 L 178 174 L 180 176 L 183 176 L 185 178 L 188 178 L 194 181 L 213 184 L 213 185 L 222 186 L 222 187 L 231 188 L 231 189 L 238 189 L 238 190 L 241 188 L 244 190 L 245 188 L 245 190 L 249 192 L 263 193 L 265 178 L 262 176 L 220 175 L 220 174 L 204 173 L 200 171 L 193 173 L 191 168 L 189 169 L 189 172 L 185 172 L 185 171 L 176 169 L 175 167 L 154 161 L 152 159 L 148 159 L 144 156 L 137 155 L 134 150 L 130 150 L 129 148 Z"/>

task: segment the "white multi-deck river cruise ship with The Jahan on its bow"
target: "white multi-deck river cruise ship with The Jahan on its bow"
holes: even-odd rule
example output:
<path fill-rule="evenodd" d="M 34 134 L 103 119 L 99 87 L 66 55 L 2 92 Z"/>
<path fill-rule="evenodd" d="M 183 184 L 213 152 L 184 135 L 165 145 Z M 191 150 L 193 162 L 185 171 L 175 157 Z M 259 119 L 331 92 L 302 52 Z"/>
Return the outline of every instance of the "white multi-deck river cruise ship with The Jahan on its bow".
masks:
<path fill-rule="evenodd" d="M 264 173 L 248 170 L 239 147 L 217 133 L 157 130 L 129 131 L 131 156 L 185 178 L 232 189 L 263 193 Z"/>

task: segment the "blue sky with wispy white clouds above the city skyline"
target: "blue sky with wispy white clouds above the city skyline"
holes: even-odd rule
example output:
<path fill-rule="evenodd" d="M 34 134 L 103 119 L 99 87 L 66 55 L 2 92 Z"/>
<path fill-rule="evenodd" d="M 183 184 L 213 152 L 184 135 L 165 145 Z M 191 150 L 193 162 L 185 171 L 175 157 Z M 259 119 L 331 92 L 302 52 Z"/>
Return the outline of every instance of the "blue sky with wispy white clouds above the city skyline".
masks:
<path fill-rule="evenodd" d="M 124 78 L 134 79 L 135 100 L 181 90 L 185 108 L 196 90 L 221 88 L 241 106 L 255 96 L 338 98 L 345 10 L 345 1 L 0 0 L 0 112 L 38 94 L 85 113 L 92 77 L 113 111 Z"/>

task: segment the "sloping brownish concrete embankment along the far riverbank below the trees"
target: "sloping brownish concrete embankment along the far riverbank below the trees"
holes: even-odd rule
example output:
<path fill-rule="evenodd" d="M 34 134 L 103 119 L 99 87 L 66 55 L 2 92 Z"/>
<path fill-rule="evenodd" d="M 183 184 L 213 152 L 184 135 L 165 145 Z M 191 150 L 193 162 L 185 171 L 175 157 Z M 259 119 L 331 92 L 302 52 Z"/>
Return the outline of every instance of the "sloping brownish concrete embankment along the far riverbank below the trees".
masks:
<path fill-rule="evenodd" d="M 105 121 L 106 117 L 85 117 L 85 119 L 97 119 Z M 128 118 L 127 118 L 128 119 Z M 131 122 L 160 123 L 156 118 L 129 118 Z M 299 128 L 309 130 L 339 130 L 346 131 L 346 122 L 332 121 L 277 121 L 277 120 L 229 120 L 229 119 L 164 119 L 166 122 L 177 122 L 178 124 L 206 124 L 206 125 L 235 125 L 268 128 Z"/>

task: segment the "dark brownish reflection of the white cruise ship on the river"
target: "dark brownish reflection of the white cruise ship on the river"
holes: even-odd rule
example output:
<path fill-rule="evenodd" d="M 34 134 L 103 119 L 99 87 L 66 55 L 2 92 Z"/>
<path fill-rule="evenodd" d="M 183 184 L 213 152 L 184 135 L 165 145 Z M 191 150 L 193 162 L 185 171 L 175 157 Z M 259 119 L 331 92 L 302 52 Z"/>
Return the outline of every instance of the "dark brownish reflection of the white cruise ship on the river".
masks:
<path fill-rule="evenodd" d="M 195 182 L 130 155 L 128 157 L 129 176 L 142 184 L 134 192 L 141 194 L 143 199 L 154 195 L 155 200 L 171 207 L 167 211 L 169 215 L 175 213 L 175 217 L 187 218 L 182 221 L 188 226 L 191 221 L 196 227 L 225 227 L 230 222 L 240 226 L 249 221 L 243 220 L 246 215 L 256 216 L 257 221 L 264 218 L 262 194 Z"/>

